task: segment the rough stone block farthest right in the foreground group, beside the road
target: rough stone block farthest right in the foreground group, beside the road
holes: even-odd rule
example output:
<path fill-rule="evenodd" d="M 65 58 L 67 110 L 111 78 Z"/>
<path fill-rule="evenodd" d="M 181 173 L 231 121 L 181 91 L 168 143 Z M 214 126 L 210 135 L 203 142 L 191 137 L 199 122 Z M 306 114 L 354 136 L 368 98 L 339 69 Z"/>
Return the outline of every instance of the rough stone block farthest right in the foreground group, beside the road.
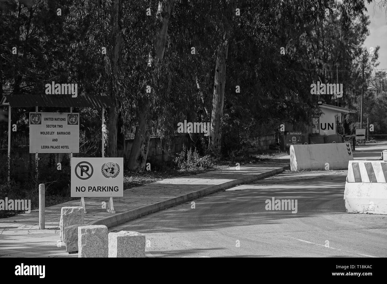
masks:
<path fill-rule="evenodd" d="M 109 257 L 145 257 L 145 235 L 133 231 L 109 233 Z"/>

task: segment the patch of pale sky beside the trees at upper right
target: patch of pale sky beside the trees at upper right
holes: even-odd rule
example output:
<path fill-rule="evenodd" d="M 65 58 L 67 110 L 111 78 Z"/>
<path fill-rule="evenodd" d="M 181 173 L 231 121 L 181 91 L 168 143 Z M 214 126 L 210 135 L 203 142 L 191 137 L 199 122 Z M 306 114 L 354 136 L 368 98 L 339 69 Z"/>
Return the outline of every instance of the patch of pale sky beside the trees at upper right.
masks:
<path fill-rule="evenodd" d="M 366 38 L 364 46 L 370 51 L 370 47 L 375 48 L 380 46 L 379 58 L 380 62 L 377 69 L 387 69 L 387 16 L 385 10 L 380 10 L 379 7 L 374 8 L 374 3 L 366 6 L 368 12 L 365 15 L 370 16 L 371 24 L 368 26 L 370 35 Z M 385 8 L 386 9 L 386 8 Z M 387 70 L 384 70 L 387 71 Z"/>

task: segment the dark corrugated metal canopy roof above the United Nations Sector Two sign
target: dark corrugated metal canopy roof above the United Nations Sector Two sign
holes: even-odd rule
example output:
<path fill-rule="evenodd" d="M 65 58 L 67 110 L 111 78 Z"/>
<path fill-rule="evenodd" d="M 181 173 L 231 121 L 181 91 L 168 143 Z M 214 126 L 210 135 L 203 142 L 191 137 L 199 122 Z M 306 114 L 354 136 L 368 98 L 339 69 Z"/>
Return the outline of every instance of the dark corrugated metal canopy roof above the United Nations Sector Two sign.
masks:
<path fill-rule="evenodd" d="M 1 104 L 10 107 L 111 107 L 113 103 L 108 96 L 82 95 L 4 95 Z"/>

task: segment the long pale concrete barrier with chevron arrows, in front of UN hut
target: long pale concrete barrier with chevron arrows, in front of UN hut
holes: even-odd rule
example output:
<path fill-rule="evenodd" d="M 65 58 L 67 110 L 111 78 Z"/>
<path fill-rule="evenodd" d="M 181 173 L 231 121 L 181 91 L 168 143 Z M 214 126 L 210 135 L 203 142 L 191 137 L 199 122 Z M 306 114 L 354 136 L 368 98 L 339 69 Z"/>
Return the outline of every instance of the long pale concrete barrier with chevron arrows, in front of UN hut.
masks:
<path fill-rule="evenodd" d="M 349 143 L 290 146 L 290 170 L 340 170 L 353 160 Z"/>

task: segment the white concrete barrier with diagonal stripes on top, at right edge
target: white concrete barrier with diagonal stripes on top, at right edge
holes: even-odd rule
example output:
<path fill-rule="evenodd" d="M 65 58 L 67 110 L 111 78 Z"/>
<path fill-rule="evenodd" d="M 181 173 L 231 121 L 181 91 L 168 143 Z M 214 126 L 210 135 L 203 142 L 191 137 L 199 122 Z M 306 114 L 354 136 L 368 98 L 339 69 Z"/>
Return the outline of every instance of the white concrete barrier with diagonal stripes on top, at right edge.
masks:
<path fill-rule="evenodd" d="M 348 213 L 387 214 L 387 162 L 348 162 L 344 190 Z"/>

